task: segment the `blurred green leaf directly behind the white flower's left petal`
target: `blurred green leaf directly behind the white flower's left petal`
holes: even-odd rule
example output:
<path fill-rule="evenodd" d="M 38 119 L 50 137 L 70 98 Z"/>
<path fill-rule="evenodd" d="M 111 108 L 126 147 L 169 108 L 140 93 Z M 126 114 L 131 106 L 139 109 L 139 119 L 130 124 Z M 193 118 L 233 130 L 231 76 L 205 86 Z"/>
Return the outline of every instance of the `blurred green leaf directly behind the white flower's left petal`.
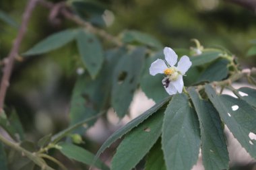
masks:
<path fill-rule="evenodd" d="M 157 52 L 153 56 L 149 56 L 146 58 L 145 67 L 141 76 L 141 89 L 146 95 L 153 99 L 156 103 L 161 101 L 164 97 L 168 96 L 166 93 L 164 86 L 162 85 L 163 76 L 158 74 L 156 76 L 150 75 L 150 65 L 154 62 L 157 58 L 161 58 L 164 56 L 162 50 Z M 152 90 L 154 89 L 154 90 Z"/>

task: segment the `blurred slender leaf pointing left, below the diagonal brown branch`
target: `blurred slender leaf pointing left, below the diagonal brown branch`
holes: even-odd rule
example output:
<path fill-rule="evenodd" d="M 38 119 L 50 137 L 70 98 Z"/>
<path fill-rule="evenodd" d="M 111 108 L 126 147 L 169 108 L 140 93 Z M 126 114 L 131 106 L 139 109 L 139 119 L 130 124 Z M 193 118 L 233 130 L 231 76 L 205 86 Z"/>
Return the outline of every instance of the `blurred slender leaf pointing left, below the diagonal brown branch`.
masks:
<path fill-rule="evenodd" d="M 57 32 L 47 38 L 44 38 L 44 40 L 38 42 L 38 44 L 34 45 L 30 50 L 22 55 L 30 56 L 56 50 L 68 42 L 71 42 L 75 38 L 76 34 L 77 30 L 64 30 L 62 32 Z"/>

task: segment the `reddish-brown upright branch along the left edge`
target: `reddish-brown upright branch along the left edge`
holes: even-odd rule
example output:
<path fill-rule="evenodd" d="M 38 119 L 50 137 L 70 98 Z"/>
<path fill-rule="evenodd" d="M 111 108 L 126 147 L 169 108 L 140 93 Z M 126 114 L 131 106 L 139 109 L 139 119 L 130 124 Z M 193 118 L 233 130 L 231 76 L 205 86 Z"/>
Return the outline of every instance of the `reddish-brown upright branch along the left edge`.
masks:
<path fill-rule="evenodd" d="M 11 51 L 9 52 L 9 55 L 7 56 L 7 58 L 5 58 L 5 67 L 3 69 L 3 77 L 1 79 L 1 85 L 0 85 L 0 114 L 3 111 L 5 95 L 6 95 L 7 88 L 9 87 L 9 79 L 11 77 L 13 63 L 14 63 L 15 57 L 18 56 L 20 44 L 22 42 L 22 38 L 24 37 L 24 34 L 26 33 L 28 20 L 30 18 L 32 10 L 34 9 L 34 6 L 36 5 L 36 1 L 37 0 L 30 0 L 28 2 L 28 5 L 23 14 L 22 25 L 20 26 L 20 29 L 18 31 L 18 36 L 15 38 L 13 42 L 13 46 L 11 48 Z"/>

